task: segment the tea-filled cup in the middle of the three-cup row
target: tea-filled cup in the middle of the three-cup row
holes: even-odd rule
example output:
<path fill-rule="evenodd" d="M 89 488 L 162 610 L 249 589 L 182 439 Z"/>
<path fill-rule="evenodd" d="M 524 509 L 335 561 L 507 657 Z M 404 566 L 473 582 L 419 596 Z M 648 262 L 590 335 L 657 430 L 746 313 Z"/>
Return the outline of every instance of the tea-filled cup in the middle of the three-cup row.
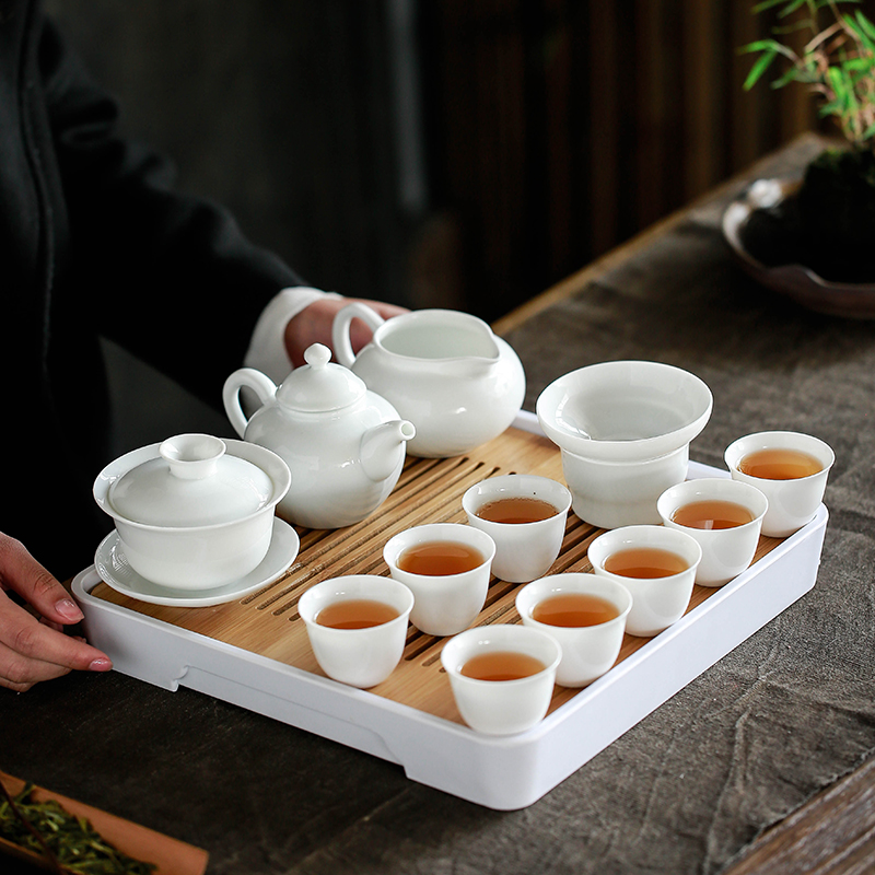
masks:
<path fill-rule="evenodd" d="M 495 542 L 459 523 L 415 526 L 389 538 L 383 558 L 413 593 L 410 621 L 430 635 L 467 629 L 482 610 Z"/>

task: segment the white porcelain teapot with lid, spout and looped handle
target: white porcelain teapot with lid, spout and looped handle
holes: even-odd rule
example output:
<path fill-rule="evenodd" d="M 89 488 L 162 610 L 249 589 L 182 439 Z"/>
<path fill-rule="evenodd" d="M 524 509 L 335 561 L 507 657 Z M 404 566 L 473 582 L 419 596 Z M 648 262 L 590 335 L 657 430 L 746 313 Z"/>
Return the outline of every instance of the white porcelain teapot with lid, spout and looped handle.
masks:
<path fill-rule="evenodd" d="M 364 520 L 392 492 L 413 425 L 348 369 L 314 343 L 306 364 L 279 388 L 254 368 L 225 381 L 222 399 L 237 434 L 272 450 L 289 466 L 292 486 L 278 511 L 308 528 L 340 528 Z M 247 419 L 241 389 L 261 407 Z"/>

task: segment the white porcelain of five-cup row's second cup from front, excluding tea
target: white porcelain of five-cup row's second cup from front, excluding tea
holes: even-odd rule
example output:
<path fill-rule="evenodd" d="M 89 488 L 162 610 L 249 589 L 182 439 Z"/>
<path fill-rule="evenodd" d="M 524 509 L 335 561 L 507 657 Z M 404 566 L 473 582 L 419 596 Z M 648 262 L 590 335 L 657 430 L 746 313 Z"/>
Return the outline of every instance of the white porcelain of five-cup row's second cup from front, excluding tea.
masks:
<path fill-rule="evenodd" d="M 533 616 L 541 603 L 567 595 L 595 596 L 609 603 L 614 616 L 593 626 L 555 626 Z M 632 609 L 632 596 L 620 583 L 596 574 L 568 572 L 526 584 L 516 595 L 516 610 L 524 626 L 552 635 L 562 649 L 556 682 L 585 687 L 611 668 L 617 661 Z"/>

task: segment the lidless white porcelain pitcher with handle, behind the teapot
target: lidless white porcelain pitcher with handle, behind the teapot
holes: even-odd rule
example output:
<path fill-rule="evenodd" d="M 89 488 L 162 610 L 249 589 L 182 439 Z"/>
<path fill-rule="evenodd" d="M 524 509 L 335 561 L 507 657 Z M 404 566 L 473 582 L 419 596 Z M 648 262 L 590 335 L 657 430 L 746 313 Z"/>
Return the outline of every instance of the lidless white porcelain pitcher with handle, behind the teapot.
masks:
<path fill-rule="evenodd" d="M 357 317 L 374 336 L 354 355 L 349 329 Z M 419 310 L 384 320 L 357 302 L 335 316 L 332 341 L 337 360 L 413 423 L 411 455 L 467 453 L 501 434 L 523 405 L 520 359 L 468 313 Z"/>

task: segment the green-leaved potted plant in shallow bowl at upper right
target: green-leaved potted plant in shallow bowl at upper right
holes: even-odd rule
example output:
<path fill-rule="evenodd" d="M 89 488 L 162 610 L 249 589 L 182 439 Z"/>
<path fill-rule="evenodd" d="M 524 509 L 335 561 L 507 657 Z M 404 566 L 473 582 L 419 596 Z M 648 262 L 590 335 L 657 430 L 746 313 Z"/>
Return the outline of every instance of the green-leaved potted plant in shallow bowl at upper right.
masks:
<path fill-rule="evenodd" d="M 778 279 L 785 284 L 789 278 L 796 288 L 814 283 L 814 293 L 827 302 L 818 308 L 831 312 L 849 302 L 858 306 L 847 287 L 875 283 L 875 24 L 859 9 L 848 11 L 848 2 L 765 0 L 754 7 L 757 13 L 778 8 L 779 24 L 772 37 L 742 47 L 757 56 L 744 88 L 783 68 L 772 88 L 808 86 L 820 116 L 835 120 L 843 143 L 825 149 L 796 185 L 780 191 L 777 183 L 760 185 L 755 209 L 736 229 L 740 236 L 730 241 L 767 270 L 795 266 L 796 276 L 784 271 Z M 798 19 L 784 23 L 793 13 Z M 796 51 L 786 40 L 801 31 L 807 42 Z M 830 306 L 822 292 L 836 292 L 835 287 L 841 294 L 832 295 Z M 868 306 L 871 313 L 852 315 L 875 315 L 875 301 Z"/>

